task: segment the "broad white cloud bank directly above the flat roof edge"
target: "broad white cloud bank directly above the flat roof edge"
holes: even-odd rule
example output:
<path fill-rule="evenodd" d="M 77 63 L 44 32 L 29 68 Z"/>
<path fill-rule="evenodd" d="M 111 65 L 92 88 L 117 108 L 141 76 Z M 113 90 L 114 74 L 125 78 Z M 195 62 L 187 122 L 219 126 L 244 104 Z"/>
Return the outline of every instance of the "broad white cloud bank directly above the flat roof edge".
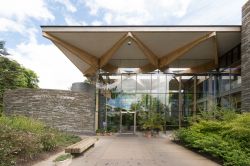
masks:
<path fill-rule="evenodd" d="M 247 0 L 82 0 L 103 24 L 240 24 Z"/>

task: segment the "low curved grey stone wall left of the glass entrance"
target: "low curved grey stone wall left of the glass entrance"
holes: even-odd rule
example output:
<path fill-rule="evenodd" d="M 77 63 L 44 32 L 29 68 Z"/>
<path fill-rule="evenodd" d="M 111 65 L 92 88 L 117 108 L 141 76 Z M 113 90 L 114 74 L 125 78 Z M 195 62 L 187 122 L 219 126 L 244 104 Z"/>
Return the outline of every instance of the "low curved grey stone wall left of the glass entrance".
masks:
<path fill-rule="evenodd" d="M 4 94 L 8 115 L 25 115 L 72 133 L 94 133 L 95 96 L 92 93 L 47 89 L 17 89 Z"/>

